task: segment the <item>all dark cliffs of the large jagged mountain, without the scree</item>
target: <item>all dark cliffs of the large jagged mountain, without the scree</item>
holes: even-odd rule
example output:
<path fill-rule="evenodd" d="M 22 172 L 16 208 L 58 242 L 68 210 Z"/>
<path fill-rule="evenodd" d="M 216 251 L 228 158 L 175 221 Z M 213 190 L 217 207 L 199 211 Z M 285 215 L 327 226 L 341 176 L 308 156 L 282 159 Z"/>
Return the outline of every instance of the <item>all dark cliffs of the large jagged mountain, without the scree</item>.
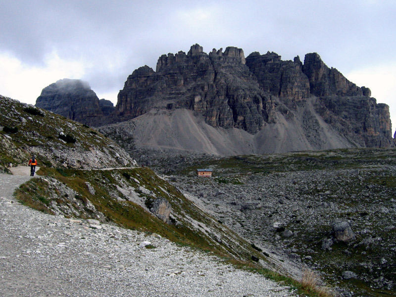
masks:
<path fill-rule="evenodd" d="M 317 53 L 306 54 L 302 64 L 298 56 L 283 61 L 274 52 L 253 52 L 245 58 L 234 47 L 206 54 L 197 44 L 187 54 L 160 56 L 155 71 L 148 66 L 135 70 L 118 95 L 116 120 L 135 118 L 151 108 L 187 108 L 203 114 L 213 127 L 255 134 L 277 123 L 279 114 L 295 125 L 306 100 L 315 97 L 317 115 L 351 144 L 393 146 L 389 108 L 370 96 L 368 88 L 329 68 Z M 299 125 L 305 129 L 315 123 L 304 120 Z"/>

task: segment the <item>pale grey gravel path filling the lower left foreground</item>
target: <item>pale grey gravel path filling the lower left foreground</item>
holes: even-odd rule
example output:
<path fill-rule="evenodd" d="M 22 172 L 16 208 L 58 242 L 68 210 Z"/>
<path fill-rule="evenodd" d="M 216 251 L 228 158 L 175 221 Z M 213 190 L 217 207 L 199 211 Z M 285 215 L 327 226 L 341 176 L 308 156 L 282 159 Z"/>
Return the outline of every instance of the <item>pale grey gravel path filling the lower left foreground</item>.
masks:
<path fill-rule="evenodd" d="M 30 176 L 0 175 L 0 296 L 290 297 L 289 288 L 155 234 L 50 216 L 16 202 Z M 148 241 L 155 248 L 139 247 Z"/>

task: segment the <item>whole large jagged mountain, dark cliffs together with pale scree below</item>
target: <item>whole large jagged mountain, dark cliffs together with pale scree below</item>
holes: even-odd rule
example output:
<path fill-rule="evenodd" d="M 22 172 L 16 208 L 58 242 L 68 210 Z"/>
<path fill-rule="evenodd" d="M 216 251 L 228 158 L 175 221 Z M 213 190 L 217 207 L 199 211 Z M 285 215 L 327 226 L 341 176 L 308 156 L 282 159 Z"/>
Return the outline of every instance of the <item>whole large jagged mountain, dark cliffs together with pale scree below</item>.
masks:
<path fill-rule="evenodd" d="M 370 96 L 317 53 L 302 63 L 274 52 L 245 58 L 235 47 L 207 54 L 196 44 L 160 56 L 155 71 L 133 71 L 113 112 L 98 118 L 95 107 L 82 121 L 113 123 L 102 131 L 125 148 L 185 155 L 393 147 L 389 106 Z"/>

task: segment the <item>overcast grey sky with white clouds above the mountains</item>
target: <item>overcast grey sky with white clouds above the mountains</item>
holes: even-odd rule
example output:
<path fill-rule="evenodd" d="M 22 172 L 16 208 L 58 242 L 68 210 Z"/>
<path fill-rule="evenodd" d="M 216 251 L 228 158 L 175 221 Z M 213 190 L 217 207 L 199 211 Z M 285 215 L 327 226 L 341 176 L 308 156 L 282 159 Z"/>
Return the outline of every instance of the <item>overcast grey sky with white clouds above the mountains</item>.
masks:
<path fill-rule="evenodd" d="M 135 69 L 198 43 L 317 52 L 390 105 L 396 126 L 396 0 L 1 0 L 0 15 L 0 94 L 22 102 L 71 78 L 116 103 Z"/>

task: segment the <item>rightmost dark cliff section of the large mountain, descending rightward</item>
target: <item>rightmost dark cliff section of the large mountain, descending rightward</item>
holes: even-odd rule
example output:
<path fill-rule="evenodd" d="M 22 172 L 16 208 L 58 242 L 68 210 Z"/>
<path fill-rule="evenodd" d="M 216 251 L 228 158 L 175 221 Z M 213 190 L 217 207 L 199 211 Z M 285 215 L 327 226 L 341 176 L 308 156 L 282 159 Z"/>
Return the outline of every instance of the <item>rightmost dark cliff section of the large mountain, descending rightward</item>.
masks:
<path fill-rule="evenodd" d="M 337 69 L 329 68 L 317 53 L 305 55 L 303 73 L 311 95 L 319 98 L 316 111 L 340 133 L 362 147 L 393 146 L 389 106 L 371 98 Z"/>

